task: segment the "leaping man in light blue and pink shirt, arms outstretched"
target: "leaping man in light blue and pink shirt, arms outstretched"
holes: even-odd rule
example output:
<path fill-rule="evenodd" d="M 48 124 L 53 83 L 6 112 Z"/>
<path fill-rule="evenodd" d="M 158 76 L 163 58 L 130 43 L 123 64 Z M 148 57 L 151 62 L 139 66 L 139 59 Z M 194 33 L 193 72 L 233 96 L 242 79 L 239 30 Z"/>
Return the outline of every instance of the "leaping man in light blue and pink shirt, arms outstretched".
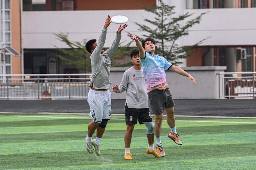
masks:
<path fill-rule="evenodd" d="M 166 120 L 171 129 L 168 137 L 176 144 L 181 145 L 179 135 L 176 132 L 174 117 L 174 101 L 169 86 L 166 83 L 166 74 L 164 70 L 172 70 L 180 75 L 188 77 L 189 81 L 196 84 L 193 78 L 186 71 L 178 66 L 174 66 L 164 57 L 155 54 L 156 42 L 152 37 L 142 40 L 141 43 L 135 35 L 130 35 L 136 42 L 139 49 L 140 61 L 143 68 L 148 92 L 149 107 L 155 118 L 155 136 L 156 148 L 160 156 L 165 156 L 164 148 L 161 143 L 161 126 L 164 118 L 164 110 L 166 111 Z"/>

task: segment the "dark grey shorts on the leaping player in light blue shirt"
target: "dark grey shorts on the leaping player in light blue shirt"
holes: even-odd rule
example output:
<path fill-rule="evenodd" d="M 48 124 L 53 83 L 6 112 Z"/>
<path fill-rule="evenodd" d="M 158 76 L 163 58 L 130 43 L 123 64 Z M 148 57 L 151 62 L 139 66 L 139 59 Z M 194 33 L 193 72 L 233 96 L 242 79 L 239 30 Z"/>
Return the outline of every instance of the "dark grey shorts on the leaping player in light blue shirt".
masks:
<path fill-rule="evenodd" d="M 175 105 L 169 87 L 165 90 L 152 90 L 148 93 L 148 101 L 151 112 L 156 115 L 161 115 L 165 108 Z"/>

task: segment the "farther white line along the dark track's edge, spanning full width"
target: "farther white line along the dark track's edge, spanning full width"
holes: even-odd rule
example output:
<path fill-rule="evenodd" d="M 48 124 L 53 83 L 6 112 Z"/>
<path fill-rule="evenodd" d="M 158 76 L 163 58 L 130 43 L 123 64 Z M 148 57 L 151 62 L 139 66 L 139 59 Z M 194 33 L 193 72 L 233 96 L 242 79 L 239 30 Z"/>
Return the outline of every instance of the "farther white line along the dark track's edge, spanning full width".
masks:
<path fill-rule="evenodd" d="M 45 115 L 89 115 L 89 113 L 52 113 L 52 112 L 0 112 L 0 114 L 45 114 Z M 124 116 L 125 114 L 113 114 Z M 164 115 L 166 116 L 166 115 Z M 175 117 L 199 117 L 199 118 L 236 118 L 236 119 L 256 119 L 256 117 L 239 117 L 239 116 L 192 116 L 192 115 L 175 115 Z"/>

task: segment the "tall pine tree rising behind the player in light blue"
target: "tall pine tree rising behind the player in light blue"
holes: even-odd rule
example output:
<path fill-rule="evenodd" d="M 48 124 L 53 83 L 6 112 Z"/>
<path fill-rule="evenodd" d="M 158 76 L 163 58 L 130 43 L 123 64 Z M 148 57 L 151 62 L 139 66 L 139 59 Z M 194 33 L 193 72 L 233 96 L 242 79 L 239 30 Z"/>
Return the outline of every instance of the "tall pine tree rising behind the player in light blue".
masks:
<path fill-rule="evenodd" d="M 153 8 L 143 7 L 145 11 L 155 15 L 154 19 L 144 19 L 148 25 L 141 25 L 137 22 L 135 22 L 135 24 L 139 26 L 140 31 L 146 32 L 146 34 L 142 35 L 143 37 L 153 37 L 155 39 L 157 47 L 156 54 L 164 56 L 174 65 L 180 64 L 182 63 L 180 59 L 187 58 L 188 55 L 191 55 L 195 47 L 205 39 L 189 47 L 180 47 L 177 44 L 177 40 L 188 35 L 188 29 L 199 24 L 205 12 L 182 24 L 186 18 L 191 17 L 193 14 L 186 12 L 183 15 L 175 17 L 175 6 L 164 4 L 163 0 L 157 1 L 159 6 L 154 4 Z M 139 37 L 139 39 L 141 39 L 141 37 Z"/>

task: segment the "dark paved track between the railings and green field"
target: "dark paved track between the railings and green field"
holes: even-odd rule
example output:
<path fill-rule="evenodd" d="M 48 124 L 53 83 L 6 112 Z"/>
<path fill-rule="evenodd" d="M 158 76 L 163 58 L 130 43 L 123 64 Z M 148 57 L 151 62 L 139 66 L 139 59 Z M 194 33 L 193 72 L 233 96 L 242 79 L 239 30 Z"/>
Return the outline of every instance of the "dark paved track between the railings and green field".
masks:
<path fill-rule="evenodd" d="M 256 100 L 174 100 L 176 115 L 256 117 Z M 112 100 L 112 113 L 124 113 L 125 100 Z M 0 100 L 0 112 L 89 113 L 86 100 Z"/>

